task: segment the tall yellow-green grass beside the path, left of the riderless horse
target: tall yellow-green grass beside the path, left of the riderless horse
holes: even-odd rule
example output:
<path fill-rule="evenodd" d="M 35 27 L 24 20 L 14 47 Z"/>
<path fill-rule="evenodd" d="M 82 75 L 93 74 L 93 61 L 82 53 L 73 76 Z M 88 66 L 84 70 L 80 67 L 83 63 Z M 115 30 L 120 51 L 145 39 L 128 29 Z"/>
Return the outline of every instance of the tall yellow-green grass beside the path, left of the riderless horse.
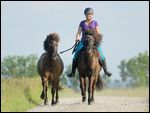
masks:
<path fill-rule="evenodd" d="M 26 111 L 42 101 L 40 78 L 1 79 L 1 111 Z"/>

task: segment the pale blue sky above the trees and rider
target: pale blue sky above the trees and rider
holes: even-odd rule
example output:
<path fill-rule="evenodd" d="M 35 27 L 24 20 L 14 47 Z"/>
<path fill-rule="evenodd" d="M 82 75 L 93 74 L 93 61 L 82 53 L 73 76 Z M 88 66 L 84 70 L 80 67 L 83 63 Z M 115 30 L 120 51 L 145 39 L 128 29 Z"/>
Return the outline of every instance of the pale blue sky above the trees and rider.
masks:
<path fill-rule="evenodd" d="M 60 36 L 58 51 L 72 47 L 86 7 L 94 10 L 111 78 L 118 79 L 121 60 L 149 53 L 148 1 L 1 1 L 1 60 L 8 55 L 40 57 L 43 41 L 53 32 Z M 65 67 L 72 63 L 72 51 L 60 56 Z"/>

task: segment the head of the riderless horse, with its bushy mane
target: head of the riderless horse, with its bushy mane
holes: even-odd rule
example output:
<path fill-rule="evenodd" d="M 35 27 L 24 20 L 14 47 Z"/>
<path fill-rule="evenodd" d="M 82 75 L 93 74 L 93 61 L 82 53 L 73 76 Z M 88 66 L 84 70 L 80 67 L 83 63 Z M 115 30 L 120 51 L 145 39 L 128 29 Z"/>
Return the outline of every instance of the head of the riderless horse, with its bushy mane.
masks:
<path fill-rule="evenodd" d="M 44 41 L 44 49 L 52 59 L 57 58 L 59 36 L 57 33 L 49 34 Z"/>

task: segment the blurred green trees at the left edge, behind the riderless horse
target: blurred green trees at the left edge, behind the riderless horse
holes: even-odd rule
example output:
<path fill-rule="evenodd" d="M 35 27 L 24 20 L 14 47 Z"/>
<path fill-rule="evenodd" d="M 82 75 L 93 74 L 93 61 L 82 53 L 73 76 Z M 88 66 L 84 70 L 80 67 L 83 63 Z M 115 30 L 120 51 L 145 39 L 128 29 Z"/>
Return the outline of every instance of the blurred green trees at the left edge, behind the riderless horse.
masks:
<path fill-rule="evenodd" d="M 8 56 L 1 62 L 1 76 L 5 77 L 23 77 L 35 76 L 37 57 L 30 56 Z"/>

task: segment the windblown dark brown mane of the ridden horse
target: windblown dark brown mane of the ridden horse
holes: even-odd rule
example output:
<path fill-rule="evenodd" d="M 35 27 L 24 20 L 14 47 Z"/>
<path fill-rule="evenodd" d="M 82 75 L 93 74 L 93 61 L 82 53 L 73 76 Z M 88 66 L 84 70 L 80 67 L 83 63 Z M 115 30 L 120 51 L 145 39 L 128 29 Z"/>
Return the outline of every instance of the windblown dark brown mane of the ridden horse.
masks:
<path fill-rule="evenodd" d="M 102 34 L 97 33 L 97 31 L 94 29 L 86 30 L 84 35 L 92 35 L 94 37 L 94 45 L 100 45 L 102 42 Z"/>

